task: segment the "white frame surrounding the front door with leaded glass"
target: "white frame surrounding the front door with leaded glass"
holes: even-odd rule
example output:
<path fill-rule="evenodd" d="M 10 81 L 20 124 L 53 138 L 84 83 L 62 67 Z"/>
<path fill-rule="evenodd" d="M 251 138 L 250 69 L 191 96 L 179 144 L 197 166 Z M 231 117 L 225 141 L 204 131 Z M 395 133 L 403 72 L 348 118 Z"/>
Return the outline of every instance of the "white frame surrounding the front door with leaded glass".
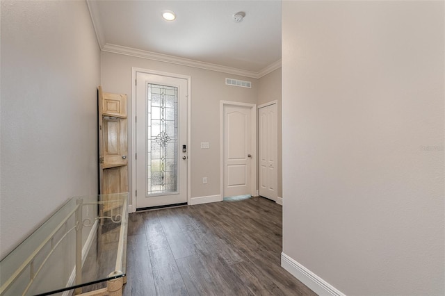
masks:
<path fill-rule="evenodd" d="M 136 212 L 136 73 L 143 72 L 187 80 L 187 204 L 191 204 L 191 76 L 131 67 L 131 207 Z"/>

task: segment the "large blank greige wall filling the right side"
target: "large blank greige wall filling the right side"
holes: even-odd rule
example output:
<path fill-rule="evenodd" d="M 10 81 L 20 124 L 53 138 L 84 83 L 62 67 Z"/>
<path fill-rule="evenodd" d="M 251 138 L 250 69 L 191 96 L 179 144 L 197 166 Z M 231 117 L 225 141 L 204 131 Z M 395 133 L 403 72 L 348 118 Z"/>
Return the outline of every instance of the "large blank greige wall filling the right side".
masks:
<path fill-rule="evenodd" d="M 444 2 L 284 1 L 283 251 L 346 295 L 444 295 Z"/>

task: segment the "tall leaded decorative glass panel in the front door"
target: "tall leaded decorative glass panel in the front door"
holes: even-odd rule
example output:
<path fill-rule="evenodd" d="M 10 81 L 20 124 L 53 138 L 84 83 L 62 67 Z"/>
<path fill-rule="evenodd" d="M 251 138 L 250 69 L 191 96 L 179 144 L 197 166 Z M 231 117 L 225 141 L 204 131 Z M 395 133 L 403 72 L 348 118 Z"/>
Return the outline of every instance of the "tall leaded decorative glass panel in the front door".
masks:
<path fill-rule="evenodd" d="M 147 197 L 178 191 L 178 88 L 147 83 Z"/>

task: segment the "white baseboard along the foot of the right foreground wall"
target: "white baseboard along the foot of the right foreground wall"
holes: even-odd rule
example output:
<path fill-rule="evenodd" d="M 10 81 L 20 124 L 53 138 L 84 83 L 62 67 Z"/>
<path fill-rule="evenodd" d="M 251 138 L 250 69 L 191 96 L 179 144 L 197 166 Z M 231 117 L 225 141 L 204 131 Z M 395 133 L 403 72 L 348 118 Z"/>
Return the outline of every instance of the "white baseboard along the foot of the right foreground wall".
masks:
<path fill-rule="evenodd" d="M 281 266 L 320 296 L 346 296 L 283 252 L 281 253 Z"/>

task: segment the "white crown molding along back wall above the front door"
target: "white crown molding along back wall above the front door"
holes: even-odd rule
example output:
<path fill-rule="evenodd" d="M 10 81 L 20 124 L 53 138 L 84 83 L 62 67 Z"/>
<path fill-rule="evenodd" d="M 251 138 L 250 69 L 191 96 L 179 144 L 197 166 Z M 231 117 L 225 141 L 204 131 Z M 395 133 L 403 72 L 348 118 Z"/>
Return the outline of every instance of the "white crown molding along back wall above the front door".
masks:
<path fill-rule="evenodd" d="M 124 54 L 126 56 L 135 56 L 137 58 L 147 58 L 148 60 L 157 60 L 159 62 L 171 63 L 176 65 L 183 65 L 188 67 L 195 67 L 200 69 L 207 69 L 216 72 L 223 72 L 227 74 L 234 74 L 239 76 L 250 77 L 259 79 L 258 72 L 252 72 L 243 69 L 236 69 L 232 67 L 226 67 L 222 65 L 216 65 L 211 63 L 204 63 L 199 60 L 191 60 L 188 58 L 179 58 L 177 56 L 168 56 L 166 54 L 159 54 L 152 51 L 145 51 L 142 49 L 133 49 L 131 47 L 122 47 L 116 44 L 104 44 L 102 51 L 111 52 L 114 54 Z"/>

